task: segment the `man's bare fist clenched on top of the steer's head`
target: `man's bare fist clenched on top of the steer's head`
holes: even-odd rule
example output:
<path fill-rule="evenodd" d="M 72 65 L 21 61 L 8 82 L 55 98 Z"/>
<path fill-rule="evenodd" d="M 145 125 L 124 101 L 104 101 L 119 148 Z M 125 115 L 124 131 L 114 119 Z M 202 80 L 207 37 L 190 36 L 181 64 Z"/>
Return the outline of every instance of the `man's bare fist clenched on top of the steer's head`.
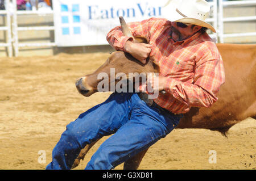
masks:
<path fill-rule="evenodd" d="M 146 43 L 133 43 L 132 41 L 126 41 L 123 46 L 123 50 L 130 53 L 131 56 L 141 61 L 142 64 L 146 63 L 146 58 L 151 52 L 152 45 Z"/>

